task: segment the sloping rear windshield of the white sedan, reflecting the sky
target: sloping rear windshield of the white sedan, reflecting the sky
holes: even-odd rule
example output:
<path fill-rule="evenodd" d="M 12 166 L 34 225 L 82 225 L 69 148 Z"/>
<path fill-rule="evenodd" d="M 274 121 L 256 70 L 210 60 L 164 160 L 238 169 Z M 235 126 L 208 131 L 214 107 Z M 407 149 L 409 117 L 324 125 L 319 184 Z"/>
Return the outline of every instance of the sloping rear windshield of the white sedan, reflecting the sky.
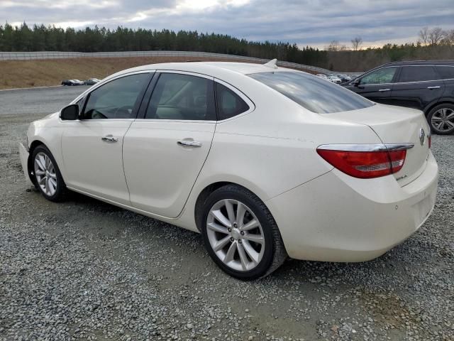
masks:
<path fill-rule="evenodd" d="M 340 85 L 305 72 L 261 72 L 248 76 L 318 114 L 347 112 L 375 104 Z"/>

